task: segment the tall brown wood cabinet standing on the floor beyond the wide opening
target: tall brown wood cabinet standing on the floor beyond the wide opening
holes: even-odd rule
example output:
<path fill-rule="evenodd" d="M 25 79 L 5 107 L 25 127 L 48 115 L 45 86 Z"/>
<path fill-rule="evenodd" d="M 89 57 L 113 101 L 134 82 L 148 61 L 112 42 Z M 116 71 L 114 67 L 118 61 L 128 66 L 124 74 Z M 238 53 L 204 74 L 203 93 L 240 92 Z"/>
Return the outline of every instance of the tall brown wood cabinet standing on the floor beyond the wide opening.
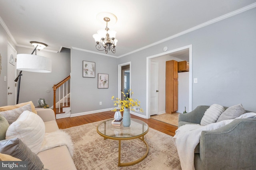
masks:
<path fill-rule="evenodd" d="M 166 61 L 166 113 L 174 113 L 178 110 L 178 62 Z"/>

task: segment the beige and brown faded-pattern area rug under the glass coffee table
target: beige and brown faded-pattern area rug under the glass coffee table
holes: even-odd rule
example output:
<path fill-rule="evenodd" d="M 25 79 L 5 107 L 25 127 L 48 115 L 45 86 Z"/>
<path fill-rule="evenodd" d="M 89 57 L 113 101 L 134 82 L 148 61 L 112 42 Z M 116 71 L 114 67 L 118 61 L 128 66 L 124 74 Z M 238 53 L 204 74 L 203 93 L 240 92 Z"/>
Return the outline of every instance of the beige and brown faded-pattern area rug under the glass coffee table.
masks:
<path fill-rule="evenodd" d="M 118 166 L 118 141 L 98 135 L 99 122 L 63 129 L 74 143 L 73 160 L 78 170 L 181 170 L 178 152 L 172 136 L 150 128 L 144 139 L 148 156 L 132 166 Z M 139 139 L 121 142 L 121 163 L 134 161 L 146 152 Z"/>

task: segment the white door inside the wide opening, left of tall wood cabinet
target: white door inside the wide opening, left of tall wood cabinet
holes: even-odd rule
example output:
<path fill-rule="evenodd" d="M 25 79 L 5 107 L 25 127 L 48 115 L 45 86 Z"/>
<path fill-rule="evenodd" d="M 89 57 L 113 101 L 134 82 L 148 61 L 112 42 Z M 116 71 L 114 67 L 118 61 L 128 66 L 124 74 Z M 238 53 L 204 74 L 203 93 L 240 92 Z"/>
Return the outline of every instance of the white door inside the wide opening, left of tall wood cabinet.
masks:
<path fill-rule="evenodd" d="M 150 61 L 150 115 L 158 114 L 158 62 Z"/>

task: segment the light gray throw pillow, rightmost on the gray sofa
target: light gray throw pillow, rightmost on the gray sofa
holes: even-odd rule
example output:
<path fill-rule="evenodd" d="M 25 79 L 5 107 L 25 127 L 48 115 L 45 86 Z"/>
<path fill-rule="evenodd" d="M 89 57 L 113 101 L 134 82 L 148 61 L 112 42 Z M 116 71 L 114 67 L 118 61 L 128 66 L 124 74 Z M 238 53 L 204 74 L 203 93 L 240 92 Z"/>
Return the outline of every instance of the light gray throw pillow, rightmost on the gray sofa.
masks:
<path fill-rule="evenodd" d="M 217 122 L 222 120 L 234 119 L 244 114 L 246 111 L 242 104 L 228 107 L 218 118 Z"/>

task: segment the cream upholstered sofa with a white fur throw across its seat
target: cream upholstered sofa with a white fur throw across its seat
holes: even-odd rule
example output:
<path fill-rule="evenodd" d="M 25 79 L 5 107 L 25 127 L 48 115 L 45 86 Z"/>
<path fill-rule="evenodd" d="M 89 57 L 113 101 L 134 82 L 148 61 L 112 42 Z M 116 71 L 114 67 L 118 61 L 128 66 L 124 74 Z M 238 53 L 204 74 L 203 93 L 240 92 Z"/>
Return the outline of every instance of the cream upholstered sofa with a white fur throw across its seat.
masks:
<path fill-rule="evenodd" d="M 42 118 L 45 125 L 45 133 L 59 129 L 55 114 L 52 109 L 36 109 L 37 114 Z M 76 166 L 66 146 L 54 147 L 39 152 L 37 156 L 49 170 L 76 170 Z"/>

